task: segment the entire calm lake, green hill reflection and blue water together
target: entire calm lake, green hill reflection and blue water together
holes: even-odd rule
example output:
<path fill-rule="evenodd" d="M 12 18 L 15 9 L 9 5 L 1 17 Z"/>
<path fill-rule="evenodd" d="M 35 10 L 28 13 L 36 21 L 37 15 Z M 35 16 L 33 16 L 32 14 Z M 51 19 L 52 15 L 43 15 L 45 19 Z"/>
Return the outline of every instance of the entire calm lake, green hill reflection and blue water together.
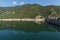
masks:
<path fill-rule="evenodd" d="M 60 40 L 60 32 L 46 23 L 0 21 L 0 40 Z"/>

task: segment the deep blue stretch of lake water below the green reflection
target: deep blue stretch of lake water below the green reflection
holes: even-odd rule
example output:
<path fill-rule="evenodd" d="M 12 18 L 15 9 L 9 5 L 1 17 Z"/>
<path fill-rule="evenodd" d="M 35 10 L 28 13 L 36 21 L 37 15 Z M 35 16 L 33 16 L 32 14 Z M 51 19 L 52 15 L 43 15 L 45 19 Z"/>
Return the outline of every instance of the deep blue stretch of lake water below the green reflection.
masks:
<path fill-rule="evenodd" d="M 0 30 L 0 40 L 60 40 L 60 32 Z"/>

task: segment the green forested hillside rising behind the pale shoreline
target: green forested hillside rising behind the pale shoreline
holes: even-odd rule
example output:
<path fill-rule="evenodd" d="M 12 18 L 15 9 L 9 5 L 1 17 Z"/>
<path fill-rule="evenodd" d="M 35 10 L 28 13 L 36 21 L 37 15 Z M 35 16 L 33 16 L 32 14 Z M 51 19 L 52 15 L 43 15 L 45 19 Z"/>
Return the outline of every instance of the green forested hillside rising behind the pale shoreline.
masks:
<path fill-rule="evenodd" d="M 0 7 L 0 18 L 43 18 L 48 16 L 60 17 L 60 6 L 42 6 L 39 4 L 25 4 L 14 7 Z"/>

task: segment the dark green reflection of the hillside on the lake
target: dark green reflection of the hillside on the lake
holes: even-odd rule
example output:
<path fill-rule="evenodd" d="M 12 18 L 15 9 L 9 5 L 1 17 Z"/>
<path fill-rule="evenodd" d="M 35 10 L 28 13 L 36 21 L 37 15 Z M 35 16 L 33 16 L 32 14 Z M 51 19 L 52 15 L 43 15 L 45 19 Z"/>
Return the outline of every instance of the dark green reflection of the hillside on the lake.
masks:
<path fill-rule="evenodd" d="M 37 24 L 35 22 L 28 21 L 0 21 L 0 30 L 20 30 L 25 32 L 40 32 L 40 31 L 51 31 L 55 32 L 56 29 L 50 27 L 50 25 L 41 22 Z"/>

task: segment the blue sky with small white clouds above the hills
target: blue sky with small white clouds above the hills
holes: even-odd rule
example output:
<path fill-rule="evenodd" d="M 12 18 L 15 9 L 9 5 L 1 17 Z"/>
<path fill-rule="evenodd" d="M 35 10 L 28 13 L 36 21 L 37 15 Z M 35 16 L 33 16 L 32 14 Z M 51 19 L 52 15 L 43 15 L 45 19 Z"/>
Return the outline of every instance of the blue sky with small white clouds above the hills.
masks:
<path fill-rule="evenodd" d="M 60 6 L 60 0 L 0 0 L 0 6 L 10 7 L 10 6 L 20 6 L 23 4 L 40 4 L 43 6 L 46 5 L 58 5 Z"/>

